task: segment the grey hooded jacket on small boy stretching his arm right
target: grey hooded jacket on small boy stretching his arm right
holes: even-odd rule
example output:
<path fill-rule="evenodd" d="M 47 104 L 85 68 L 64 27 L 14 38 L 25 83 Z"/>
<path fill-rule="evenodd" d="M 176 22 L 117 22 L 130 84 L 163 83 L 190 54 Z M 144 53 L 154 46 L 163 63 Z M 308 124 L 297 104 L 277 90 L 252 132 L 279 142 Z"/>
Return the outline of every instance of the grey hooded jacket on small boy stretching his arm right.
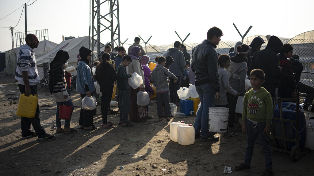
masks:
<path fill-rule="evenodd" d="M 158 64 L 152 71 L 150 81 L 152 81 L 155 84 L 157 93 L 169 91 L 169 83 L 167 76 L 174 80 L 178 80 L 178 78 L 174 74 L 172 74 L 168 69 L 166 69 L 161 64 Z"/>

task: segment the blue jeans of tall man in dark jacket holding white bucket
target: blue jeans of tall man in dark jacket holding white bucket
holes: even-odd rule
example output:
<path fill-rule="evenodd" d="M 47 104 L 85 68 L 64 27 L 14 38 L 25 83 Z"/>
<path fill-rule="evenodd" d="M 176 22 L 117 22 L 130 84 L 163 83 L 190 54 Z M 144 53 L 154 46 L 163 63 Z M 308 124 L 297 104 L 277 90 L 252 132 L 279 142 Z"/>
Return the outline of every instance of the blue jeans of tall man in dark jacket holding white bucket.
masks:
<path fill-rule="evenodd" d="M 201 107 L 198 109 L 193 127 L 196 134 L 201 131 L 201 137 L 208 137 L 208 109 L 209 107 L 215 106 L 216 92 L 210 83 L 196 86 L 196 91 L 201 101 Z"/>

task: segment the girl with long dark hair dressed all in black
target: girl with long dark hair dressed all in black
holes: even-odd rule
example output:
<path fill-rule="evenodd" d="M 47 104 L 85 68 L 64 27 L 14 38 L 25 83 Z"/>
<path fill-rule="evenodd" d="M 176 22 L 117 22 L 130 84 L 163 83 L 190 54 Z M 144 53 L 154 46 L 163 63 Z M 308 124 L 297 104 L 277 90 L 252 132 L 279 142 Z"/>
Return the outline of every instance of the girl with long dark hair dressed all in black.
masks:
<path fill-rule="evenodd" d="M 108 108 L 110 106 L 111 96 L 113 92 L 114 81 L 117 79 L 116 72 L 113 66 L 107 61 L 110 59 L 110 54 L 103 53 L 101 62 L 96 69 L 96 79 L 100 84 L 100 92 L 102 94 L 102 128 L 114 128 L 112 122 L 107 121 Z M 106 111 L 105 111 L 106 110 Z"/>

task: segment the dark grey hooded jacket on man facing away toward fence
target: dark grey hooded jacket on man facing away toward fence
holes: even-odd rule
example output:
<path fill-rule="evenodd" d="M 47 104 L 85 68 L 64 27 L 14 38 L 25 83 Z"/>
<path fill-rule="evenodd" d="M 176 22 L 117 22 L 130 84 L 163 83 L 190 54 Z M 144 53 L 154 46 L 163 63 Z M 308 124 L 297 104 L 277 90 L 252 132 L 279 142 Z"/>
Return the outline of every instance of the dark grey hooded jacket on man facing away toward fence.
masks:
<path fill-rule="evenodd" d="M 171 56 L 174 62 L 169 66 L 169 71 L 177 77 L 182 77 L 182 73 L 185 69 L 184 54 L 177 48 L 169 49 L 167 56 Z"/>

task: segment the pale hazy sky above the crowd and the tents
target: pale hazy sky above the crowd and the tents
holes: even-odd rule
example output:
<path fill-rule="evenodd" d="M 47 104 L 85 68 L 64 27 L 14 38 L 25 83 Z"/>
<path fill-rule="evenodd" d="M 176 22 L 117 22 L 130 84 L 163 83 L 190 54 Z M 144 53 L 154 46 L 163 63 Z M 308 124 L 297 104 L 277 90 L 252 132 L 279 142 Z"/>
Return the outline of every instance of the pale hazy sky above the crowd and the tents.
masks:
<path fill-rule="evenodd" d="M 1 0 L 0 19 L 24 3 L 35 0 Z M 100 0 L 102 1 L 102 0 Z M 108 3 L 100 6 L 102 15 L 109 12 Z M 240 35 L 252 25 L 246 37 L 252 35 L 277 35 L 292 38 L 314 30 L 312 0 L 119 0 L 121 41 L 127 38 L 132 44 L 141 35 L 149 44 L 172 44 L 191 33 L 185 43 L 200 43 L 206 39 L 207 30 L 213 26 L 222 29 L 222 41 L 239 41 Z M 23 7 L 0 20 L 0 51 L 11 49 L 11 31 L 19 21 Z M 96 24 L 95 24 L 96 25 Z M 82 37 L 89 35 L 89 0 L 37 0 L 27 7 L 27 29 L 49 30 L 49 40 L 62 41 L 62 35 Z M 102 30 L 103 28 L 101 28 Z M 24 11 L 15 32 L 25 31 Z M 100 42 L 110 41 L 110 34 L 102 34 Z"/>

